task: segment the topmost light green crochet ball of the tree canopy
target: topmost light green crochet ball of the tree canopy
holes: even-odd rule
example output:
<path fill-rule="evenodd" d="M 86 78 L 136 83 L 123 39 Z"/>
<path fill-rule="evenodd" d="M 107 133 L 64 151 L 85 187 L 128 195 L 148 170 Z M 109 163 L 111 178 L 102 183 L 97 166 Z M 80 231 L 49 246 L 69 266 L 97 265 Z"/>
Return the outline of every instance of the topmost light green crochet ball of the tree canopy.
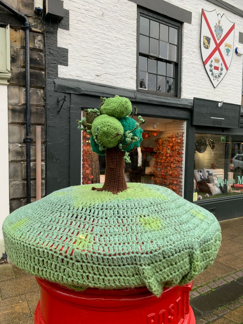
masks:
<path fill-rule="evenodd" d="M 100 107 L 101 114 L 106 114 L 117 119 L 128 116 L 131 114 L 132 104 L 128 98 L 115 96 L 108 98 Z"/>

